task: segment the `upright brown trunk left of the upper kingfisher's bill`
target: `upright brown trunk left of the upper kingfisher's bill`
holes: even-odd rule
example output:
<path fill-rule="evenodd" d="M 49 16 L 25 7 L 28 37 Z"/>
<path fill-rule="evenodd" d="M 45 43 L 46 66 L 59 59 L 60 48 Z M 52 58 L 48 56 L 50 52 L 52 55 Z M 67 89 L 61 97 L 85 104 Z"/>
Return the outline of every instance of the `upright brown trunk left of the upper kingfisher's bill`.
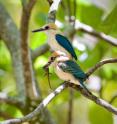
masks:
<path fill-rule="evenodd" d="M 31 55 L 28 45 L 28 27 L 31 11 L 33 9 L 36 0 L 29 0 L 27 5 L 23 6 L 22 17 L 21 17 L 21 50 L 22 50 L 22 63 L 23 63 L 23 71 L 25 77 L 25 90 L 26 95 L 31 99 L 37 99 L 39 97 L 39 93 L 37 90 L 33 68 Z"/>

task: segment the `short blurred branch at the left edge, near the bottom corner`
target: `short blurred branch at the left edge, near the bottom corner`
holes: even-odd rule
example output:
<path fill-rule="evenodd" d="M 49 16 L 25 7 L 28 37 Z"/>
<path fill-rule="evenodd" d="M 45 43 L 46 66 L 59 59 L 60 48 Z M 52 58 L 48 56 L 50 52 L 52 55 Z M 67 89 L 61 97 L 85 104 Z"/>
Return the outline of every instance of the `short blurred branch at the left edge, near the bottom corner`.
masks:
<path fill-rule="evenodd" d="M 24 104 L 18 98 L 7 96 L 5 93 L 0 93 L 0 102 L 8 103 L 18 108 L 24 108 Z"/>

